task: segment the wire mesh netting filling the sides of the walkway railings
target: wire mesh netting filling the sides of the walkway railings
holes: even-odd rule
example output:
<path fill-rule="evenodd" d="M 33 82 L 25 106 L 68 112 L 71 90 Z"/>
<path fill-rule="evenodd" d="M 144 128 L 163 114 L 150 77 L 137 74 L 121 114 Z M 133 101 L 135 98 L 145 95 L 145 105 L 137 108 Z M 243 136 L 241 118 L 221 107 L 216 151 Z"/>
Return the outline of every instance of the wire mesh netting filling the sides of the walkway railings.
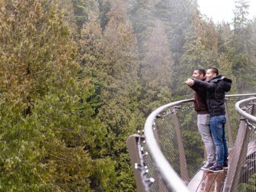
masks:
<path fill-rule="evenodd" d="M 228 97 L 226 99 L 227 124 L 225 132 L 230 150 L 234 147 L 240 122 L 240 115 L 234 106 L 241 99 L 243 99 L 241 96 Z M 242 107 L 248 107 L 250 104 L 246 102 L 243 105 Z M 184 103 L 162 111 L 153 122 L 152 129 L 161 152 L 180 178 L 185 183 L 188 183 L 200 170 L 201 166 L 204 165 L 206 160 L 204 144 L 198 131 L 197 114 L 194 111 L 193 102 Z M 250 132 L 249 134 L 248 131 L 248 143 L 253 146 L 255 138 L 252 132 L 254 130 Z M 147 151 L 147 145 L 145 143 L 141 145 Z M 247 149 L 247 146 L 244 147 Z M 256 175 L 254 175 L 255 154 L 250 154 L 249 160 L 246 158 L 239 168 L 241 169 L 240 175 L 235 175 L 237 180 L 234 183 L 236 186 L 234 191 L 256 191 L 256 187 L 252 190 L 252 183 L 254 182 L 252 178 L 255 178 L 256 184 Z M 149 186 L 150 191 L 168 191 L 150 155 L 145 155 L 143 160 L 149 170 L 147 177 L 155 179 L 154 183 L 151 183 Z M 248 176 L 249 173 L 250 176 Z"/>

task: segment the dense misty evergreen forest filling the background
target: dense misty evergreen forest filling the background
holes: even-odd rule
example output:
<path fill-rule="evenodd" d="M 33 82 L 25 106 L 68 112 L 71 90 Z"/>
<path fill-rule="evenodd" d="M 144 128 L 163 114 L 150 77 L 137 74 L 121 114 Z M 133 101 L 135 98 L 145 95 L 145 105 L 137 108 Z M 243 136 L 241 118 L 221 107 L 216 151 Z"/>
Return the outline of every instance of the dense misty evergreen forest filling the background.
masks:
<path fill-rule="evenodd" d="M 195 68 L 255 92 L 249 6 L 214 23 L 197 0 L 0 0 L 0 191 L 136 191 L 126 139 L 192 97 Z"/>

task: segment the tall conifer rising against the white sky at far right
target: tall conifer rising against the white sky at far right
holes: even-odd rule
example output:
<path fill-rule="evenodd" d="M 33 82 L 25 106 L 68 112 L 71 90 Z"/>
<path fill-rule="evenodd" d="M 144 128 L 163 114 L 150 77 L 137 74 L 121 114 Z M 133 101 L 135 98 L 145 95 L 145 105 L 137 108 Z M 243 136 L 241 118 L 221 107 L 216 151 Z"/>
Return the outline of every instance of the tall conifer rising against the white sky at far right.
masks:
<path fill-rule="evenodd" d="M 234 75 L 237 77 L 237 88 L 242 92 L 252 90 L 255 86 L 255 63 L 253 50 L 255 45 L 251 39 L 253 33 L 249 26 L 249 2 L 235 1 L 233 37 L 228 50 L 229 61 L 233 63 Z M 245 75 L 246 74 L 246 75 Z"/>

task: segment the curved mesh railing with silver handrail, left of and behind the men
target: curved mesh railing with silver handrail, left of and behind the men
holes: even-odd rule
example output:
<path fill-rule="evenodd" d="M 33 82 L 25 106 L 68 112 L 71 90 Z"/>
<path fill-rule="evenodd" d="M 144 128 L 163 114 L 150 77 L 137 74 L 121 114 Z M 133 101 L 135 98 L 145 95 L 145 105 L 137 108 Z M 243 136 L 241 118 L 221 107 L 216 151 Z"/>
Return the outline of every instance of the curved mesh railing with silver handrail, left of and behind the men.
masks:
<path fill-rule="evenodd" d="M 237 138 L 240 120 L 235 102 L 252 95 L 256 94 L 226 96 L 226 134 L 230 148 Z M 136 148 L 139 154 L 137 160 L 131 156 L 135 177 L 141 178 L 136 180 L 139 191 L 188 191 L 186 183 L 205 163 L 206 153 L 193 102 L 193 99 L 181 100 L 159 107 L 147 118 L 144 133 L 130 137 L 136 146 L 130 145 L 129 151 Z M 246 101 L 241 105 L 248 104 Z"/>

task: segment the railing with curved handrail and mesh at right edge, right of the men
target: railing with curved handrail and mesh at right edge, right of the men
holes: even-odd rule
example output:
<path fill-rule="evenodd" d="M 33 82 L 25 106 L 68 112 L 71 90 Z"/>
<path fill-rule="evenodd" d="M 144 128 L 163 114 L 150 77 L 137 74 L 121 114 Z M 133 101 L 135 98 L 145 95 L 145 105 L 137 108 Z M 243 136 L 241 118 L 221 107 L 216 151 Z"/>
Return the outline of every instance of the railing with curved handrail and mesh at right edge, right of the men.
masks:
<path fill-rule="evenodd" d="M 224 192 L 256 191 L 256 97 L 240 100 L 235 109 L 241 115 Z"/>

